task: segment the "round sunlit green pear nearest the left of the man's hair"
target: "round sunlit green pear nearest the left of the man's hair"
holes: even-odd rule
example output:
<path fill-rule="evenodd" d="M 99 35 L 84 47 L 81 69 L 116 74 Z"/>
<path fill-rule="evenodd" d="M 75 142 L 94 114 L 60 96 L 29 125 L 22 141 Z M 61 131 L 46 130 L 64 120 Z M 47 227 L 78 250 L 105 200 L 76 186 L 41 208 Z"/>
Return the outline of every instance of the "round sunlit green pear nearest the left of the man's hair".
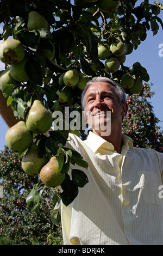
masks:
<path fill-rule="evenodd" d="M 66 71 L 63 79 L 66 86 L 76 86 L 76 84 L 79 82 L 78 71 L 76 69 Z"/>

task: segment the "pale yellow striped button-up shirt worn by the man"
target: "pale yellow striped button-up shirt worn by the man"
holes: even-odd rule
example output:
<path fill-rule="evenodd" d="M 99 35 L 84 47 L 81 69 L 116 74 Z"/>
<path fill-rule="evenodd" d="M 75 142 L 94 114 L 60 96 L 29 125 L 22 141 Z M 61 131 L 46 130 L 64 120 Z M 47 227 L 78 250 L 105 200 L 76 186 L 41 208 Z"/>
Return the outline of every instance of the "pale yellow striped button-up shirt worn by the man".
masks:
<path fill-rule="evenodd" d="M 64 245 L 163 245 L 163 154 L 133 148 L 126 135 L 121 154 L 92 132 L 86 141 L 72 134 L 68 140 L 89 163 L 72 168 L 89 182 L 70 205 L 61 202 Z"/>

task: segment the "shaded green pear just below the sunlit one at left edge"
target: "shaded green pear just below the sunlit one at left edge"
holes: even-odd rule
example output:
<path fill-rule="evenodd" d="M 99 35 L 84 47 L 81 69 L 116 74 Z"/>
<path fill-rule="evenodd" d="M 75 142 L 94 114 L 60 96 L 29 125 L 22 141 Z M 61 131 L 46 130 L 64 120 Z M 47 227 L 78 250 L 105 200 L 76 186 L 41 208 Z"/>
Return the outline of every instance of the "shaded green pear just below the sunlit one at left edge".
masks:
<path fill-rule="evenodd" d="M 27 75 L 25 65 L 28 58 L 24 58 L 21 62 L 17 64 L 10 65 L 10 74 L 18 82 L 27 82 L 29 77 Z"/>

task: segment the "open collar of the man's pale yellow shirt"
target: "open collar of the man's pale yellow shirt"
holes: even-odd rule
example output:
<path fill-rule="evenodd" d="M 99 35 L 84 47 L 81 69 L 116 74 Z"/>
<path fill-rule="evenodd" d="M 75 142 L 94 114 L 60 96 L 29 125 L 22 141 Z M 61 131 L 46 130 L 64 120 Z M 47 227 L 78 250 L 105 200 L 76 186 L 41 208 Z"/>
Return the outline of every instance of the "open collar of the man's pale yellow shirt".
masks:
<path fill-rule="evenodd" d="M 105 139 L 103 139 L 102 137 L 96 135 L 91 131 L 89 132 L 89 135 L 84 142 L 86 144 L 89 143 L 89 147 L 94 153 L 96 153 L 96 151 L 99 148 L 114 150 L 114 146 L 110 142 L 105 141 Z M 129 148 L 134 151 L 133 141 L 130 137 L 122 134 L 122 142 L 123 142 L 123 145 L 129 145 Z"/>

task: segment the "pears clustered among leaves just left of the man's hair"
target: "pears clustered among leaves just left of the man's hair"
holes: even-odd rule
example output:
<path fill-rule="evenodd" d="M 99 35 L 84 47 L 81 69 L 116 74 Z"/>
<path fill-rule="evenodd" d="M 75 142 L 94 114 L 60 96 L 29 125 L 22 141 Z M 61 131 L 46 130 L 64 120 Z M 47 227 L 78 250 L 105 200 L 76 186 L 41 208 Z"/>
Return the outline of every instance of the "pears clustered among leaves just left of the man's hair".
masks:
<path fill-rule="evenodd" d="M 61 74 L 59 77 L 59 85 L 60 86 L 78 86 L 79 89 L 84 90 L 86 83 L 90 80 L 90 77 L 86 76 L 82 72 L 78 72 L 76 69 L 71 69 Z M 68 98 L 65 90 L 57 91 L 57 95 L 59 96 L 59 101 L 64 103 L 67 102 Z"/>

